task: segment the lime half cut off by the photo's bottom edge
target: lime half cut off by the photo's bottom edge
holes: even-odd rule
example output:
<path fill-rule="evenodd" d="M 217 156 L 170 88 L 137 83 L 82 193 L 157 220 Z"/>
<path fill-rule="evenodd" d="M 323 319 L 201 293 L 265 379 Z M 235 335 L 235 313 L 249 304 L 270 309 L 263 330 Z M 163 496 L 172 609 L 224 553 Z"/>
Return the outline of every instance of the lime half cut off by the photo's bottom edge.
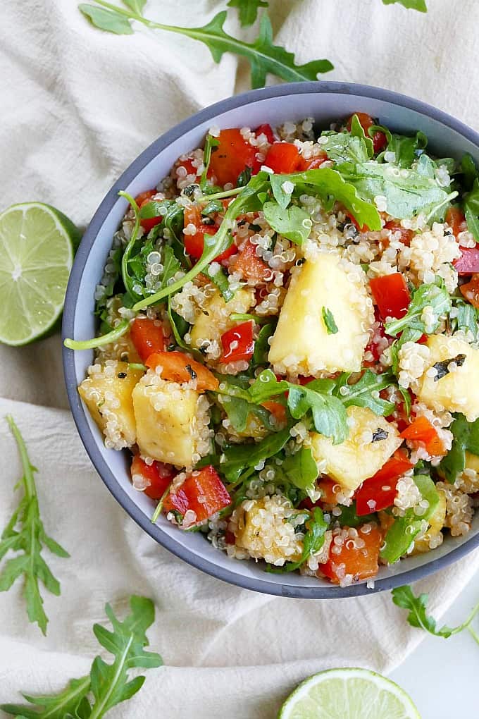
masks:
<path fill-rule="evenodd" d="M 406 692 L 368 669 L 330 669 L 299 684 L 278 719 L 421 719 Z"/>

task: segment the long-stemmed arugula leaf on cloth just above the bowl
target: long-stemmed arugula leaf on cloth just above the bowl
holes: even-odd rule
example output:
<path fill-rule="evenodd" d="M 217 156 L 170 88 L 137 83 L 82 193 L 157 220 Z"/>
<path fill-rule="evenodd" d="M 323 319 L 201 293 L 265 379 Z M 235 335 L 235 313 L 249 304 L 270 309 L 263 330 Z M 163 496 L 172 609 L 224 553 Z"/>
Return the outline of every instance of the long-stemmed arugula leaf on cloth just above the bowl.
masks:
<path fill-rule="evenodd" d="M 317 80 L 320 73 L 332 70 L 329 60 L 312 60 L 304 65 L 297 65 L 294 53 L 288 52 L 281 45 L 273 44 L 273 29 L 266 12 L 261 16 L 259 35 L 254 42 L 243 42 L 223 29 L 227 12 L 219 12 L 203 27 L 177 27 L 153 22 L 142 14 L 143 6 L 132 9 L 121 8 L 105 0 L 95 0 L 96 4 L 82 3 L 80 12 L 101 30 L 114 32 L 116 35 L 131 35 L 131 22 L 136 21 L 151 29 L 166 30 L 179 35 L 191 37 L 192 40 L 203 42 L 211 52 L 215 63 L 219 63 L 225 52 L 233 52 L 246 58 L 251 66 L 251 85 L 260 88 L 266 82 L 266 75 L 276 75 L 287 82 L 301 80 Z"/>

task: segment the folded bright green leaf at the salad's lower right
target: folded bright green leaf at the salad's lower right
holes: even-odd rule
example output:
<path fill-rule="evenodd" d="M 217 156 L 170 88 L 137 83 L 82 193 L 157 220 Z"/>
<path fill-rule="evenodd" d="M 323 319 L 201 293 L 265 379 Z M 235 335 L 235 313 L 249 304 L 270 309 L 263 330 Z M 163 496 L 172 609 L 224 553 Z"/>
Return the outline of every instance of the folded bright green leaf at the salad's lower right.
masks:
<path fill-rule="evenodd" d="M 394 564 L 406 554 L 411 542 L 417 537 L 422 529 L 422 521 L 428 520 L 439 503 L 439 494 L 436 485 L 429 475 L 414 475 L 414 482 L 422 495 L 422 498 L 429 502 L 429 508 L 418 517 L 414 509 L 407 509 L 403 517 L 396 517 L 384 537 L 383 548 L 379 556 L 388 564 Z"/>

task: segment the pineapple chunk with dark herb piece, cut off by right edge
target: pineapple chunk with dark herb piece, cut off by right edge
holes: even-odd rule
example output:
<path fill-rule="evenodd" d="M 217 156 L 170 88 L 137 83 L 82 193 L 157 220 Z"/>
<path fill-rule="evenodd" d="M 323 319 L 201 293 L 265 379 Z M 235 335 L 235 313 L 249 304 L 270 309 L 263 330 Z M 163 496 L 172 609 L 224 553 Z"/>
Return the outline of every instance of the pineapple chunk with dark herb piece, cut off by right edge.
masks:
<path fill-rule="evenodd" d="M 417 396 L 428 407 L 443 411 L 462 412 L 468 422 L 479 417 L 479 349 L 454 336 L 431 334 L 427 339 L 429 359 L 419 380 Z M 465 354 L 462 366 L 449 372 L 439 380 L 429 377 L 427 371 L 437 362 L 453 359 Z"/>

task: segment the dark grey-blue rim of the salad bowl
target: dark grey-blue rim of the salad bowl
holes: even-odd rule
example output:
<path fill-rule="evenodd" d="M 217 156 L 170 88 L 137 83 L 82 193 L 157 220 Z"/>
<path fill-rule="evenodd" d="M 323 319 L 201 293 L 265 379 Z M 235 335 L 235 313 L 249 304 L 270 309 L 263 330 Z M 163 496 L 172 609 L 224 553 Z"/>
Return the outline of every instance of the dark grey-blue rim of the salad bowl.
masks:
<path fill-rule="evenodd" d="M 167 132 L 164 132 L 164 134 L 162 134 L 158 139 L 154 140 L 154 142 L 152 142 L 146 150 L 141 152 L 141 154 L 136 157 L 136 160 L 131 162 L 131 165 L 126 168 L 124 173 L 121 174 L 118 180 L 116 180 L 116 183 L 114 183 L 108 193 L 106 193 L 106 196 L 103 198 L 103 201 L 101 201 L 100 206 L 98 206 L 96 213 L 93 215 L 90 224 L 88 224 L 85 234 L 83 234 L 83 239 L 75 256 L 73 269 L 70 273 L 70 279 L 68 281 L 68 287 L 65 294 L 62 339 L 67 336 L 74 336 L 75 299 L 78 296 L 78 290 L 85 270 L 85 263 L 103 222 L 113 209 L 115 203 L 118 201 L 119 190 L 129 186 L 131 181 L 136 178 L 136 175 L 138 175 L 140 171 L 159 154 L 159 152 L 162 152 L 162 150 L 164 150 L 171 142 L 179 139 L 183 134 L 189 132 L 191 129 L 194 129 L 198 124 L 208 121 L 209 119 L 213 119 L 215 116 L 225 111 L 236 109 L 239 106 L 246 106 L 258 100 L 312 92 L 355 95 L 366 97 L 368 99 L 386 101 L 406 109 L 417 111 L 419 114 L 426 115 L 429 118 L 440 122 L 440 124 L 455 130 L 455 132 L 461 134 L 479 148 L 479 133 L 460 122 L 460 120 L 455 119 L 450 114 L 404 94 L 368 85 L 338 81 L 282 83 L 279 85 L 261 88 L 259 90 L 251 90 L 220 100 L 183 120 L 179 124 L 175 125 L 175 127 L 172 127 L 167 130 Z M 409 584 L 410 582 L 427 577 L 429 574 L 437 572 L 437 570 L 443 569 L 453 562 L 457 562 L 458 559 L 465 557 L 466 554 L 475 549 L 475 547 L 479 546 L 478 532 L 475 536 L 471 536 L 470 539 L 463 542 L 460 546 L 451 549 L 447 554 L 439 557 L 438 559 L 432 559 L 432 561 L 427 562 L 427 564 L 422 564 L 419 567 L 414 567 L 413 569 L 406 570 L 400 574 L 391 574 L 390 577 L 381 577 L 381 579 L 376 579 L 374 587 L 371 589 L 366 586 L 365 582 L 353 584 L 349 587 L 324 587 L 322 585 L 318 585 L 317 587 L 303 587 L 301 585 L 283 585 L 281 582 L 271 582 L 268 579 L 268 574 L 266 574 L 266 572 L 263 579 L 262 577 L 258 578 L 241 573 L 237 574 L 230 569 L 220 567 L 218 564 L 215 564 L 215 562 L 211 562 L 205 557 L 200 557 L 191 549 L 188 549 L 180 544 L 180 542 L 174 537 L 169 536 L 166 532 L 162 531 L 162 528 L 157 524 L 152 524 L 149 517 L 134 503 L 134 501 L 121 487 L 108 466 L 108 463 L 98 449 L 96 439 L 93 436 L 90 426 L 88 425 L 85 411 L 78 398 L 73 350 L 62 346 L 62 358 L 68 401 L 70 403 L 75 425 L 77 426 L 80 439 L 85 446 L 86 452 L 88 453 L 91 462 L 93 462 L 93 466 L 108 487 L 108 490 L 110 490 L 111 494 L 118 501 L 121 507 L 126 510 L 126 513 L 128 513 L 129 516 L 134 519 L 134 521 L 136 521 L 136 523 L 139 524 L 139 526 L 141 526 L 141 528 L 144 529 L 149 536 L 152 537 L 152 539 L 164 546 L 165 549 L 171 551 L 176 557 L 183 559 L 187 562 L 187 564 L 210 574 L 216 579 L 223 580 L 229 584 L 237 585 L 243 589 L 254 590 L 256 592 L 263 592 L 281 597 L 295 597 L 299 599 L 339 599 L 343 597 L 355 597 L 382 592 L 384 590 Z"/>

